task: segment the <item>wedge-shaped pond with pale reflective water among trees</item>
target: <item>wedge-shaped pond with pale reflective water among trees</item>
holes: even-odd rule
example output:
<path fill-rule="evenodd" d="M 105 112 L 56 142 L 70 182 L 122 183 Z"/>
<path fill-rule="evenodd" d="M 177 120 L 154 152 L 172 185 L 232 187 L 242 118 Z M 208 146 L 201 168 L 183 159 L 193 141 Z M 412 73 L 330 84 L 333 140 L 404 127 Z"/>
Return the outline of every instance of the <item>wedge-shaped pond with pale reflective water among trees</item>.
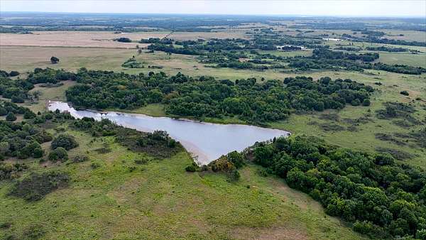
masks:
<path fill-rule="evenodd" d="M 267 141 L 278 136 L 289 136 L 288 131 L 266 129 L 241 124 L 211 124 L 188 119 L 153 117 L 145 114 L 126 114 L 116 111 L 76 110 L 66 102 L 49 102 L 48 109 L 69 111 L 80 119 L 84 116 L 114 121 L 116 124 L 139 131 L 167 131 L 170 137 L 182 143 L 187 151 L 197 156 L 198 162 L 207 164 L 231 151 L 243 151 L 256 141 Z"/>

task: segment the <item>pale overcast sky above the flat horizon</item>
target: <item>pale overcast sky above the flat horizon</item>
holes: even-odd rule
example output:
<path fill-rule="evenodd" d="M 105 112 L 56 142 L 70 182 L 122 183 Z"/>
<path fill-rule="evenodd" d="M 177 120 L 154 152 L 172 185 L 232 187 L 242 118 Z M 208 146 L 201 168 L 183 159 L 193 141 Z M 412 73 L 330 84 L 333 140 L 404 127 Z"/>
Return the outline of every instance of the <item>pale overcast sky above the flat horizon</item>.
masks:
<path fill-rule="evenodd" d="M 248 15 L 426 16 L 426 0 L 328 1 L 11 1 L 0 11 L 75 13 L 212 13 Z"/>

